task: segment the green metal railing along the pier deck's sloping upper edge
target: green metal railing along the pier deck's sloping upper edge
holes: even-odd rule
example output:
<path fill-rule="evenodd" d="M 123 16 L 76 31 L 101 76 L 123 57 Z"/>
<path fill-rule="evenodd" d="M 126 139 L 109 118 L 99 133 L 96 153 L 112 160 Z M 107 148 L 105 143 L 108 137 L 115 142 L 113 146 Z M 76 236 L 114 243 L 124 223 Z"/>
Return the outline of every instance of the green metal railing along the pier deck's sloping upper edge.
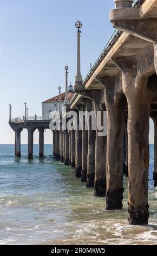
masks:
<path fill-rule="evenodd" d="M 134 0 L 133 2 L 133 7 L 135 7 L 135 4 L 138 2 L 138 0 Z M 91 74 L 93 74 L 94 70 L 96 69 L 97 64 L 100 63 L 101 59 L 106 55 L 106 52 L 108 50 L 108 47 L 112 44 L 113 39 L 118 37 L 118 35 L 121 33 L 118 29 L 115 29 L 112 35 L 110 36 L 109 40 L 107 41 L 107 44 L 104 46 L 103 51 L 100 53 L 99 57 L 97 58 L 96 62 L 92 66 L 91 70 L 88 72 L 87 76 L 83 80 L 83 84 L 86 83 L 88 78 L 90 77 Z"/>

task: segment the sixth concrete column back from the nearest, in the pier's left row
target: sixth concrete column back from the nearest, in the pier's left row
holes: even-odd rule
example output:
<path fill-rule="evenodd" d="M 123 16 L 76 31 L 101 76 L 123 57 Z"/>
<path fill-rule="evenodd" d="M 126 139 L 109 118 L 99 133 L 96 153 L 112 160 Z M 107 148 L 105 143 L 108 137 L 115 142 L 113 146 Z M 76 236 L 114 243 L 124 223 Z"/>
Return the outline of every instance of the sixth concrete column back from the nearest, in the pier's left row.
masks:
<path fill-rule="evenodd" d="M 82 131 L 76 131 L 76 178 L 81 178 L 82 171 Z"/>

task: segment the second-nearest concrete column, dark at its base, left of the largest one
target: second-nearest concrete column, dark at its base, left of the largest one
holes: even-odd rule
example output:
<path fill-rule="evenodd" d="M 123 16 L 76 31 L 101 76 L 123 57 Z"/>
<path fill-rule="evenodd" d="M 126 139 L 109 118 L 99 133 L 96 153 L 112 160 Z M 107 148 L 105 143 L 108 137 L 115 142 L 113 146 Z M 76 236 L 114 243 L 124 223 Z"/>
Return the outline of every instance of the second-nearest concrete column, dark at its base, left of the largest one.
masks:
<path fill-rule="evenodd" d="M 112 89 L 110 89 L 112 88 Z M 119 93 L 115 91 L 119 90 Z M 122 209 L 123 139 L 125 136 L 126 97 L 121 75 L 106 79 L 105 103 L 108 113 L 106 210 Z"/>

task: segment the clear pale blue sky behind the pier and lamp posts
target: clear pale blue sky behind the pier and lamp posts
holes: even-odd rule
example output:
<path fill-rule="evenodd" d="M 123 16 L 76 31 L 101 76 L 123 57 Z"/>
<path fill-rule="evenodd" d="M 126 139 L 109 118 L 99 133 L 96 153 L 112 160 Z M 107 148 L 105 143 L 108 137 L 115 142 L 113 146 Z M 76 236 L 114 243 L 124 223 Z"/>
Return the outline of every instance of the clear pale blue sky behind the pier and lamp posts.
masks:
<path fill-rule="evenodd" d="M 82 22 L 81 65 L 86 76 L 113 32 L 109 10 L 114 1 L 106 0 L 0 0 L 0 144 L 14 143 L 8 125 L 9 103 L 13 117 L 41 115 L 41 102 L 64 91 L 64 66 L 69 65 L 69 81 L 76 73 L 76 28 Z M 151 142 L 153 128 L 151 125 Z M 51 143 L 47 131 L 45 142 Z M 35 132 L 35 143 L 38 132 Z M 22 132 L 27 143 L 27 132 Z"/>

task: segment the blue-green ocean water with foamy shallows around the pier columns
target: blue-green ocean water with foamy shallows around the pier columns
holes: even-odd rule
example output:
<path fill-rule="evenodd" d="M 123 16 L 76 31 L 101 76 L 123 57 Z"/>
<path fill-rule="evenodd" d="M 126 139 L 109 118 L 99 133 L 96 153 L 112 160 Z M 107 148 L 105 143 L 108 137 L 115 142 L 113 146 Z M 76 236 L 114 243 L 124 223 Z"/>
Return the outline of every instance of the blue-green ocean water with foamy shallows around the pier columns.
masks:
<path fill-rule="evenodd" d="M 52 146 L 45 145 L 44 160 L 14 156 L 14 145 L 0 145 L 1 245 L 155 245 L 157 191 L 153 187 L 153 145 L 150 145 L 149 224 L 127 221 L 127 179 L 123 209 L 105 210 L 104 198 L 93 197 L 75 178 L 74 169 L 56 162 Z"/>

